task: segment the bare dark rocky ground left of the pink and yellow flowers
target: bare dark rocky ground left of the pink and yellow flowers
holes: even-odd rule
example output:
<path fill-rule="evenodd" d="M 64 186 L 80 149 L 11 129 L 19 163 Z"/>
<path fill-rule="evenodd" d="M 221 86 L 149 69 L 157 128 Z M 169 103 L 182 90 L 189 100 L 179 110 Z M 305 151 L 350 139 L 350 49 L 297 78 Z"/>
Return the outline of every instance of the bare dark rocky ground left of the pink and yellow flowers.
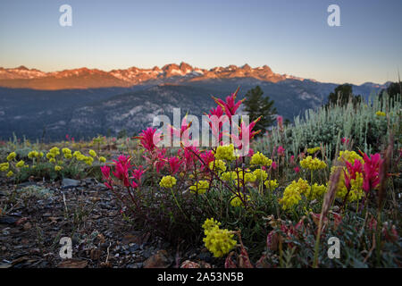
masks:
<path fill-rule="evenodd" d="M 215 266 L 205 248 L 180 250 L 136 230 L 95 179 L 0 181 L 0 212 L 0 268 Z M 71 238 L 71 259 L 60 257 L 63 237 Z"/>

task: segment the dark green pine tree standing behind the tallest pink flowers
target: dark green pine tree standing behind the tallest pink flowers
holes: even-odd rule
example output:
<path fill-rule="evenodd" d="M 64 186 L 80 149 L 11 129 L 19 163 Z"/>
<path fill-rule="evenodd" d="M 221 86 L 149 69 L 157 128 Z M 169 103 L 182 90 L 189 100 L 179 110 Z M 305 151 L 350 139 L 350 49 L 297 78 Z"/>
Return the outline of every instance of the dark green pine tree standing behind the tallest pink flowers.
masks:
<path fill-rule="evenodd" d="M 250 122 L 255 121 L 258 117 L 263 115 L 259 122 L 256 122 L 254 130 L 262 130 L 260 134 L 264 134 L 264 131 L 275 121 L 274 114 L 276 114 L 276 108 L 273 107 L 273 100 L 270 97 L 263 97 L 264 91 L 259 86 L 247 91 L 246 100 L 244 101 L 245 108 L 249 116 Z"/>

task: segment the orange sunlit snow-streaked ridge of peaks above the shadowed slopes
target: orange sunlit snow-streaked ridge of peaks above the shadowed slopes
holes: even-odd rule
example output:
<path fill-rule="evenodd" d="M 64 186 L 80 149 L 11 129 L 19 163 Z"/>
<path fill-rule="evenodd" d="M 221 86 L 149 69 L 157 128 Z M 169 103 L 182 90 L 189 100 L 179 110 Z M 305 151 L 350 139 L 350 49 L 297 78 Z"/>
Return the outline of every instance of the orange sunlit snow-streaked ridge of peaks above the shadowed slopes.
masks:
<path fill-rule="evenodd" d="M 71 89 L 71 88 L 128 88 L 143 84 L 182 83 L 199 80 L 225 80 L 235 78 L 252 78 L 267 82 L 282 80 L 305 80 L 287 74 L 275 73 L 267 65 L 250 67 L 229 65 L 201 69 L 188 63 L 170 63 L 162 68 L 152 69 L 130 67 L 124 70 L 101 71 L 98 69 L 80 69 L 64 71 L 38 71 L 21 65 L 17 68 L 0 67 L 0 87 L 32 89 Z"/>

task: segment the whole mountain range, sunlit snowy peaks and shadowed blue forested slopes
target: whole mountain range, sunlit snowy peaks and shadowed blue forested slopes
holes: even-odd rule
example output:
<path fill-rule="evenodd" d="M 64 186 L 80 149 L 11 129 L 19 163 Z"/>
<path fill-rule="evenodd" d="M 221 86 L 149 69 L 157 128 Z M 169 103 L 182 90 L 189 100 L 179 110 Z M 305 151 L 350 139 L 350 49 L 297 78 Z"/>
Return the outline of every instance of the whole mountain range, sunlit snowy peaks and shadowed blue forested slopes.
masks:
<path fill-rule="evenodd" d="M 275 73 L 270 67 L 230 65 L 210 70 L 188 63 L 162 68 L 100 71 L 80 68 L 44 72 L 24 66 L 0 68 L 0 139 L 13 132 L 29 139 L 63 139 L 70 134 L 88 139 L 121 130 L 138 133 L 152 125 L 157 114 L 201 115 L 214 107 L 214 97 L 226 97 L 240 87 L 239 98 L 259 85 L 275 102 L 278 114 L 289 120 L 308 108 L 324 104 L 338 86 Z M 367 98 L 389 83 L 353 85 Z"/>

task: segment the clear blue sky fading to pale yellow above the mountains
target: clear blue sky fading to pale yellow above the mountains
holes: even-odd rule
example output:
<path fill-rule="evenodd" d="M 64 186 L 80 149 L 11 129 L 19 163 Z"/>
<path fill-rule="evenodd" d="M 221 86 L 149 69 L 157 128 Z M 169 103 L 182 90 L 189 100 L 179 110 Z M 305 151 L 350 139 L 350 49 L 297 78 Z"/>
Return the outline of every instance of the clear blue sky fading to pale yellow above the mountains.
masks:
<path fill-rule="evenodd" d="M 63 27 L 62 4 L 72 26 Z M 330 4 L 340 26 L 330 27 Z M 401 0 L 1 0 L 0 66 L 104 71 L 230 64 L 334 83 L 402 69 Z"/>

